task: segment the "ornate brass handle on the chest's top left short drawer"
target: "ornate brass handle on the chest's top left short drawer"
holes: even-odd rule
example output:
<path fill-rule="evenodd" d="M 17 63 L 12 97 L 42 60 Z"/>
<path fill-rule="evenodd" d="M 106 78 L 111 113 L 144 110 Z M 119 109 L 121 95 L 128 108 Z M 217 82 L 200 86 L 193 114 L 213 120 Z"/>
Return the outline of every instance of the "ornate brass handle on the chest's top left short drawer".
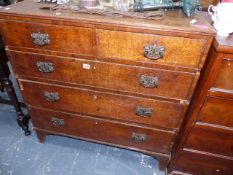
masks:
<path fill-rule="evenodd" d="M 47 33 L 32 33 L 32 42 L 38 46 L 45 46 L 50 43 L 49 34 Z"/>

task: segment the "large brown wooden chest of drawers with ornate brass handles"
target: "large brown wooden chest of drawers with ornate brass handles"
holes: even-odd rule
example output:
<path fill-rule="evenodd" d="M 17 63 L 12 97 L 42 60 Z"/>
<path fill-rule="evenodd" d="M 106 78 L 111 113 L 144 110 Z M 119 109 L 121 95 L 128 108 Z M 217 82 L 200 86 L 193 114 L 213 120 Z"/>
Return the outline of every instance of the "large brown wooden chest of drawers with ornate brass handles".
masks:
<path fill-rule="evenodd" d="M 162 20 L 0 11 L 0 30 L 41 142 L 59 134 L 141 151 L 164 169 L 212 42 L 181 11 Z"/>

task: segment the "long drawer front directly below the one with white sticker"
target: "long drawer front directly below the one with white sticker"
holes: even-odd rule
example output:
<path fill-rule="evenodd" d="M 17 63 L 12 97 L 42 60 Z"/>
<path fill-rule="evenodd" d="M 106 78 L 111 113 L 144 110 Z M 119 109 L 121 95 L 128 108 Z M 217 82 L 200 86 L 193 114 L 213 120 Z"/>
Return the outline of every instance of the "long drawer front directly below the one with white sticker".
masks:
<path fill-rule="evenodd" d="M 182 106 L 175 103 L 31 81 L 20 80 L 20 84 L 25 101 L 32 106 L 167 128 L 177 128 L 183 118 Z"/>

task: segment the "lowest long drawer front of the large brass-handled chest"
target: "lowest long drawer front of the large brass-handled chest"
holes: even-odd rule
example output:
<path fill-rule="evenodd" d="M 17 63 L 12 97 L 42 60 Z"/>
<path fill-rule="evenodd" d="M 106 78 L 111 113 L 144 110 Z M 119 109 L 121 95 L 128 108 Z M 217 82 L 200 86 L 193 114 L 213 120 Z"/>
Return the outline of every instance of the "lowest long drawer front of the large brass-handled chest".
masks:
<path fill-rule="evenodd" d="M 29 113 L 33 125 L 37 128 L 122 145 L 136 150 L 169 153 L 174 139 L 174 134 L 170 132 L 109 122 L 87 116 L 33 108 L 30 109 Z"/>

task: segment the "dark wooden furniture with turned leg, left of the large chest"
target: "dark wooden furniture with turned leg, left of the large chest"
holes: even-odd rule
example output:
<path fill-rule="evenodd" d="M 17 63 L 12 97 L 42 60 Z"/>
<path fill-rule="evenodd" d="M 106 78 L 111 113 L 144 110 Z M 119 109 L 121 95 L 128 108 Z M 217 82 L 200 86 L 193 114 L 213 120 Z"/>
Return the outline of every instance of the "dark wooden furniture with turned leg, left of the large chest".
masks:
<path fill-rule="evenodd" d="M 20 108 L 14 87 L 12 86 L 12 82 L 9 79 L 10 70 L 8 68 L 7 62 L 8 58 L 5 52 L 5 47 L 3 41 L 0 38 L 0 90 L 2 92 L 6 90 L 15 107 L 19 126 L 23 129 L 25 135 L 30 135 L 30 131 L 28 130 L 29 117 L 25 116 Z"/>

